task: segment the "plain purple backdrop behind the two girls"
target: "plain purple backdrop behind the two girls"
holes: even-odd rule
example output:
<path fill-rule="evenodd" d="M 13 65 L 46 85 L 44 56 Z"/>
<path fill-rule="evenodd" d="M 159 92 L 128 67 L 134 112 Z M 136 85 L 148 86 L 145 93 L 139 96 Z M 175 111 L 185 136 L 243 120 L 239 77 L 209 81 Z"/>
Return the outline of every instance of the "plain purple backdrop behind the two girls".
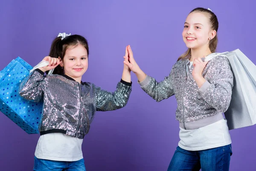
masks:
<path fill-rule="evenodd" d="M 183 23 L 199 6 L 218 17 L 218 52 L 239 48 L 256 64 L 256 10 L 249 0 L 9 0 L 0 7 L 0 70 L 17 56 L 35 66 L 59 32 L 71 32 L 89 41 L 83 81 L 114 91 L 128 44 L 140 67 L 161 81 L 186 50 Z M 157 103 L 140 89 L 134 74 L 132 81 L 125 108 L 96 113 L 82 145 L 87 171 L 167 170 L 179 141 L 175 97 Z M 230 171 L 256 170 L 255 131 L 256 125 L 230 131 Z M 0 170 L 32 170 L 38 138 L 0 113 Z"/>

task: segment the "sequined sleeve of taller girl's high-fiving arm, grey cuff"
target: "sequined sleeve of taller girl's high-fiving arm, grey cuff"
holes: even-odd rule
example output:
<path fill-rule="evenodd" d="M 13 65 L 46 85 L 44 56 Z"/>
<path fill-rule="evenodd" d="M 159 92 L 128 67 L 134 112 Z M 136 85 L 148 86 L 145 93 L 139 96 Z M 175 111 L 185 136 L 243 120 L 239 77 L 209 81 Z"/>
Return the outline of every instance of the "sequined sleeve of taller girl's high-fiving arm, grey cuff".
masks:
<path fill-rule="evenodd" d="M 165 77 L 161 82 L 157 82 L 154 78 L 147 75 L 145 80 L 139 82 L 139 84 L 149 96 L 158 102 L 163 99 L 168 99 L 170 96 L 174 95 L 172 80 L 171 71 L 169 76 Z"/>

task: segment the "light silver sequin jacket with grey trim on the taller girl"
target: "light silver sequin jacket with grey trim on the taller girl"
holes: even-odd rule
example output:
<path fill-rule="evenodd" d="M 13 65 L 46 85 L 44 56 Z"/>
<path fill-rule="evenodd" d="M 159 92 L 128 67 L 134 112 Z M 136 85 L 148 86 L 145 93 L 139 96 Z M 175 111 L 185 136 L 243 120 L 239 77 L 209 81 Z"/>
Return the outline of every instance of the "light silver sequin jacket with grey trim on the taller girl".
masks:
<path fill-rule="evenodd" d="M 177 61 L 161 82 L 146 76 L 141 88 L 156 101 L 175 95 L 177 100 L 176 119 L 183 129 L 196 129 L 220 119 L 229 107 L 233 73 L 226 57 L 217 56 L 208 62 L 202 75 L 206 82 L 198 88 L 192 77 L 193 66 L 189 60 Z"/>

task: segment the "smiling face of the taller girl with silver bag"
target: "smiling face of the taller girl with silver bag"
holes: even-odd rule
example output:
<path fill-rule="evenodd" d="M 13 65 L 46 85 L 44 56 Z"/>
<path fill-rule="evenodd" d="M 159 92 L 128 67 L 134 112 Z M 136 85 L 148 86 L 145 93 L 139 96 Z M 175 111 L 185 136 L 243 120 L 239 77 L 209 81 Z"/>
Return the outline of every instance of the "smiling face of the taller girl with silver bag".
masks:
<path fill-rule="evenodd" d="M 209 40 L 215 35 L 216 31 L 212 30 L 207 13 L 191 12 L 186 18 L 182 37 L 188 48 L 209 47 Z"/>

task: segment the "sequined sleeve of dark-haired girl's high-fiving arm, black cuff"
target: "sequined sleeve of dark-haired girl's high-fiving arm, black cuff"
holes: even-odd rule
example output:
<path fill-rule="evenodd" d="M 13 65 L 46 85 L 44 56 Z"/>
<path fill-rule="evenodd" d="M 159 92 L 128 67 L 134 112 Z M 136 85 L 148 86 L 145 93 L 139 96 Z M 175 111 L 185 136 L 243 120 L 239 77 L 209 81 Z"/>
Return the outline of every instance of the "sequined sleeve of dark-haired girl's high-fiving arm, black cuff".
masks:
<path fill-rule="evenodd" d="M 102 90 L 95 85 L 94 87 L 96 89 L 96 110 L 98 111 L 116 110 L 125 107 L 131 93 L 131 83 L 128 85 L 122 80 L 117 84 L 115 92 Z"/>

